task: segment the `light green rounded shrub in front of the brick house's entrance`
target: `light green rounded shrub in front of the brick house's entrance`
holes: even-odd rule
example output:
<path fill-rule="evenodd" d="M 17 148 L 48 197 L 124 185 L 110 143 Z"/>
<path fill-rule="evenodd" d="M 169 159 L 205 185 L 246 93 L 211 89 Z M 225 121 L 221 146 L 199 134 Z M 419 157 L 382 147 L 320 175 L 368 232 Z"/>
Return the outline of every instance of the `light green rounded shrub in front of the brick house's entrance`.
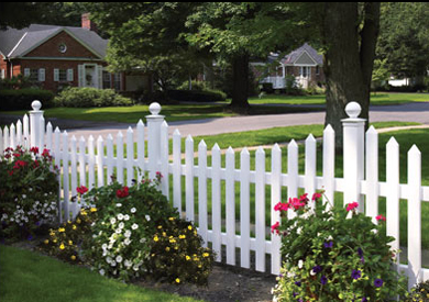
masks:
<path fill-rule="evenodd" d="M 65 88 L 57 97 L 55 104 L 58 107 L 90 108 L 132 105 L 130 99 L 121 97 L 112 89 L 97 88 Z"/>

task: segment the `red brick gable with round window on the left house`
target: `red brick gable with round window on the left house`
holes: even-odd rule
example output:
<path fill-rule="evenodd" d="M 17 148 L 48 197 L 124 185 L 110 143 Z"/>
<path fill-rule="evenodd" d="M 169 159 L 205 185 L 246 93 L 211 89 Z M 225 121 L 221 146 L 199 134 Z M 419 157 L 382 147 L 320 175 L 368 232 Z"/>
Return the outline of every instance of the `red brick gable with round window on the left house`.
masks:
<path fill-rule="evenodd" d="M 64 30 L 48 37 L 46 41 L 42 42 L 42 44 L 35 44 L 33 48 L 30 49 L 30 52 L 23 54 L 23 58 L 25 57 L 100 59 L 99 55 L 84 46 L 82 43 L 77 41 Z"/>

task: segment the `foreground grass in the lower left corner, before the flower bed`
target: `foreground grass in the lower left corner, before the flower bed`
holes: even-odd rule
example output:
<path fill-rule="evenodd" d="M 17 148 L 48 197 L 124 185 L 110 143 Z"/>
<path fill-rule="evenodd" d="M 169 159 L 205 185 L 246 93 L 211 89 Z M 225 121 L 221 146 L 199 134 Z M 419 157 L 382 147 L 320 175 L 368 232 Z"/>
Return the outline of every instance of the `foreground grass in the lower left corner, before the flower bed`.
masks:
<path fill-rule="evenodd" d="M 15 247 L 0 245 L 0 254 L 2 302 L 197 301 L 125 284 L 87 268 Z"/>

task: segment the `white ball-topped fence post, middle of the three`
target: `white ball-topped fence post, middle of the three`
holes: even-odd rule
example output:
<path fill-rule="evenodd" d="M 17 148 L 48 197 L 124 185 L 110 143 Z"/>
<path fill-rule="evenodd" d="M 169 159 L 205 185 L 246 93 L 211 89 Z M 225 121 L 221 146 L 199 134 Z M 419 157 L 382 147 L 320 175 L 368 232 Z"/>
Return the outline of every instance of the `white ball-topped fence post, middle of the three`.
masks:
<path fill-rule="evenodd" d="M 151 115 L 146 115 L 147 121 L 147 157 L 148 157 L 148 177 L 155 179 L 156 171 L 160 170 L 161 161 L 161 125 L 164 122 L 164 115 L 160 115 L 161 105 L 152 103 L 148 107 Z"/>

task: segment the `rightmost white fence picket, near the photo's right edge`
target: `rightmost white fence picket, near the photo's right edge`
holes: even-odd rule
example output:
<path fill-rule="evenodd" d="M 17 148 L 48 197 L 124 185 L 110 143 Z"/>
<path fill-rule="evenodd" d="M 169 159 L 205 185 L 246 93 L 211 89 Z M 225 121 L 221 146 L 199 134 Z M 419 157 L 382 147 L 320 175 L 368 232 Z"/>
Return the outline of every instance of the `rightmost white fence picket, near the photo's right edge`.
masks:
<path fill-rule="evenodd" d="M 408 288 L 421 281 L 421 154 L 408 152 Z"/>

